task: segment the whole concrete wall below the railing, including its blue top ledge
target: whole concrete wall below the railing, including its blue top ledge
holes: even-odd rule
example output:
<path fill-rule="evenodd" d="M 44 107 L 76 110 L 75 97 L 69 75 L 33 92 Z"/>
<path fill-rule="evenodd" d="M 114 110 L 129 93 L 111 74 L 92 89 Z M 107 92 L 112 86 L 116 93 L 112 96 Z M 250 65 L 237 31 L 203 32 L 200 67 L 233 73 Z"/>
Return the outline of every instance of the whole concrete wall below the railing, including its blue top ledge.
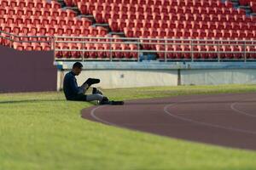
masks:
<path fill-rule="evenodd" d="M 60 69 L 59 88 L 73 62 L 55 63 Z M 102 88 L 148 86 L 256 84 L 256 62 L 83 62 L 78 77 L 81 84 L 88 77 L 102 79 Z M 61 70 L 64 70 L 61 72 Z"/>

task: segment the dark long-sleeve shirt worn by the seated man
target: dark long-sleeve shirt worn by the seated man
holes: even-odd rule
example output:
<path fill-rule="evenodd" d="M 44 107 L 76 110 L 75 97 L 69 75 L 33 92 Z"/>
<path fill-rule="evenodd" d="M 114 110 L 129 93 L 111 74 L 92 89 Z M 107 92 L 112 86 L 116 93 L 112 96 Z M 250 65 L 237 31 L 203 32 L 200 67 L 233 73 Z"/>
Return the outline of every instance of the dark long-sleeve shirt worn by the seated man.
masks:
<path fill-rule="evenodd" d="M 66 99 L 74 99 L 80 93 L 78 82 L 73 71 L 70 71 L 65 75 L 63 90 Z"/>

